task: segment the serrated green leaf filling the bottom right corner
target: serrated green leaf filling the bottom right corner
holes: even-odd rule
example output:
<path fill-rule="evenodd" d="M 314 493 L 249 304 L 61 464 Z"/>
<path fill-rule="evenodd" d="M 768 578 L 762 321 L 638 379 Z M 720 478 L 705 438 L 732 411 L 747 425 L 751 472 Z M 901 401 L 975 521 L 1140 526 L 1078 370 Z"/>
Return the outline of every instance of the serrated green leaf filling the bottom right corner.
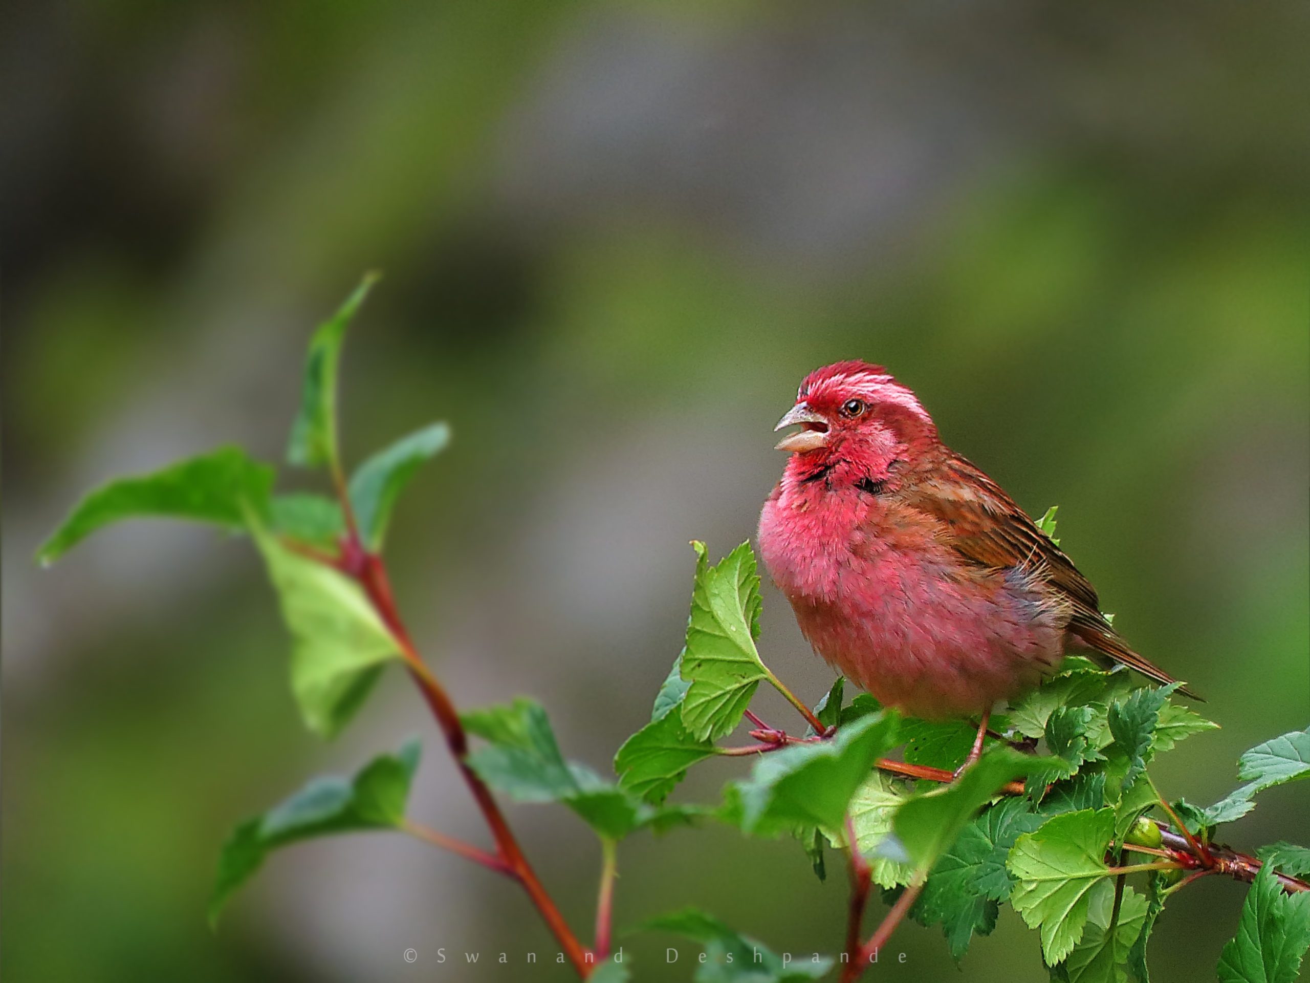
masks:
<path fill-rule="evenodd" d="M 1284 894 L 1262 868 L 1242 904 L 1237 937 L 1220 955 L 1220 983 L 1293 983 L 1310 948 L 1310 894 Z"/>

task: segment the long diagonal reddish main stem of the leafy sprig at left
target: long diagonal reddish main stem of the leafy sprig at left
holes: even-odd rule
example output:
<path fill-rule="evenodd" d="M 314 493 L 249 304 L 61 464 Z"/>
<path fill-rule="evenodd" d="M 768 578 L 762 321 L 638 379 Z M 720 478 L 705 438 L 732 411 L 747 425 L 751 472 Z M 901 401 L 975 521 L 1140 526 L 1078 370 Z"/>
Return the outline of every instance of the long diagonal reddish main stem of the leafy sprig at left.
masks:
<path fill-rule="evenodd" d="M 432 710 L 432 716 L 436 718 L 441 734 L 445 737 L 447 747 L 458 765 L 460 775 L 464 777 L 465 785 L 469 786 L 473 800 L 477 802 L 482 817 L 491 830 L 499 857 L 508 868 L 510 876 L 523 885 L 523 889 L 528 893 L 537 911 L 541 912 L 542 920 L 559 942 L 561 949 L 578 971 L 578 975 L 586 979 L 595 969 L 595 962 L 588 961 L 587 949 L 578 941 L 572 929 L 569 928 L 569 923 L 565 921 L 565 916 L 537 878 L 536 872 L 519 847 L 519 841 L 510 830 L 510 824 L 506 822 L 504 814 L 500 811 L 500 806 L 493 797 L 491 790 L 469 767 L 466 760 L 469 738 L 460 721 L 460 713 L 444 687 L 432 675 L 414 647 L 414 642 L 401 621 L 400 611 L 396 607 L 396 599 L 392 595 L 390 582 L 386 577 L 386 568 L 380 557 L 364 549 L 359 540 L 354 516 L 350 514 L 343 489 L 339 488 L 338 490 L 342 492 L 342 509 L 346 511 L 348 528 L 342 544 L 342 569 L 359 581 L 373 608 L 396 638 L 410 676 Z"/>

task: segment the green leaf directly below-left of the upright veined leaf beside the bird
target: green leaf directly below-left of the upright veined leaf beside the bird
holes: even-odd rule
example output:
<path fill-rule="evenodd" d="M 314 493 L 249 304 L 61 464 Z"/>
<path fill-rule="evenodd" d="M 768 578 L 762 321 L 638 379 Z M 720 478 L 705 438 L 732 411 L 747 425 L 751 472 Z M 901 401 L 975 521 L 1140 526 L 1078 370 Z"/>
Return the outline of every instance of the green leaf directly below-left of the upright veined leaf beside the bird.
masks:
<path fill-rule="evenodd" d="M 680 666 L 681 655 L 655 696 L 651 722 L 614 755 L 618 784 L 647 802 L 663 802 L 686 777 L 688 768 L 714 755 L 714 744 L 693 738 L 683 726 L 681 713 L 673 713 L 692 685 L 683 679 Z"/>

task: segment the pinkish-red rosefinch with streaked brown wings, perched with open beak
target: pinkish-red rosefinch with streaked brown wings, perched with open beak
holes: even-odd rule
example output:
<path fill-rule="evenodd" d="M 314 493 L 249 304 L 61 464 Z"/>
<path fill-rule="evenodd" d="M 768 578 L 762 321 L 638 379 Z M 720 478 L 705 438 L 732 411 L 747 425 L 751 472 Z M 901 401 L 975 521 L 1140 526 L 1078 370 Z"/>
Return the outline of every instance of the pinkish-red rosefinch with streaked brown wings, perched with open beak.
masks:
<path fill-rule="evenodd" d="M 878 700 L 916 717 L 982 714 L 972 759 L 992 706 L 1065 653 L 1174 682 L 1128 647 L 1087 578 L 938 439 L 887 370 L 811 372 L 776 429 L 791 425 L 760 553 L 815 651 Z"/>

